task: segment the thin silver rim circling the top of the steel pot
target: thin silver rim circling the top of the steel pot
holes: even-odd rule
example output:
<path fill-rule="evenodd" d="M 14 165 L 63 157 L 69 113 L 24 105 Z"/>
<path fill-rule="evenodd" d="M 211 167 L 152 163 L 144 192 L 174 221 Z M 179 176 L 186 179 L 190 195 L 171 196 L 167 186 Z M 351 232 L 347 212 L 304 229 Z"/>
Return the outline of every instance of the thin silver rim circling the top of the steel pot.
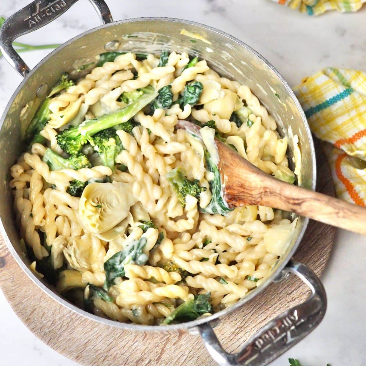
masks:
<path fill-rule="evenodd" d="M 198 22 L 193 22 L 193 21 L 190 21 L 190 20 L 184 20 L 184 19 L 179 19 L 179 18 L 165 18 L 165 17 L 128 18 L 128 19 L 123 19 L 123 20 L 119 20 L 119 21 L 116 21 L 116 22 L 107 23 L 107 24 L 104 24 L 104 25 L 101 25 L 101 26 L 98 26 L 98 27 L 94 27 L 92 29 L 89 29 L 89 30 L 79 34 L 78 36 L 75 36 L 74 38 L 71 38 L 67 42 L 65 42 L 62 45 L 60 45 L 59 47 L 57 47 L 51 53 L 49 53 L 46 57 L 44 57 L 44 59 L 42 59 L 29 72 L 29 74 L 23 79 L 23 81 L 20 83 L 20 85 L 16 88 L 16 90 L 12 94 L 12 96 L 10 98 L 10 101 L 8 102 L 8 104 L 6 105 L 6 107 L 4 109 L 3 115 L 1 116 L 1 120 L 0 120 L 0 129 L 3 126 L 3 123 L 4 123 L 5 117 L 7 115 L 7 112 L 10 109 L 11 104 L 12 104 L 13 100 L 15 99 L 16 95 L 19 93 L 20 90 L 22 90 L 22 88 L 25 85 L 25 83 L 27 82 L 27 80 L 31 77 L 31 75 L 34 74 L 34 72 L 36 72 L 38 70 L 38 67 L 40 67 L 41 64 L 48 61 L 48 59 L 50 59 L 53 55 L 55 55 L 57 52 L 59 52 L 64 47 L 67 47 L 72 42 L 78 40 L 79 38 L 82 38 L 82 37 L 86 36 L 87 34 L 93 33 L 93 32 L 98 31 L 100 29 L 108 28 L 110 26 L 115 26 L 115 25 L 120 25 L 120 24 L 124 24 L 124 23 L 130 23 L 130 22 L 141 22 L 141 21 L 178 22 L 178 23 L 182 23 L 182 24 L 188 24 L 188 25 L 201 27 L 203 29 L 212 31 L 214 33 L 219 33 L 220 35 L 222 35 L 224 37 L 227 37 L 229 40 L 234 41 L 238 45 L 246 48 L 248 51 L 250 51 L 253 54 L 253 56 L 258 57 L 259 59 L 261 59 L 266 64 L 266 66 L 268 66 L 276 74 L 276 76 L 280 79 L 280 81 L 283 83 L 283 85 L 287 89 L 288 93 L 290 94 L 290 96 L 294 100 L 295 105 L 298 108 L 298 111 L 299 111 L 300 115 L 302 116 L 303 124 L 305 125 L 307 136 L 309 138 L 309 145 L 310 145 L 310 151 L 311 151 L 311 160 L 312 160 L 312 163 L 313 163 L 313 176 L 311 177 L 312 178 L 312 187 L 311 187 L 311 189 L 315 190 L 315 186 L 316 186 L 316 161 L 315 161 L 315 149 L 314 149 L 313 138 L 312 138 L 312 135 L 311 135 L 309 124 L 307 123 L 307 120 L 306 120 L 305 113 L 303 112 L 303 109 L 302 109 L 298 99 L 296 98 L 294 92 L 292 91 L 292 89 L 290 88 L 288 83 L 284 80 L 284 78 L 276 70 L 276 68 L 273 67 L 272 64 L 269 63 L 269 61 L 267 61 L 257 51 L 255 51 L 253 48 L 251 48 L 250 46 L 248 46 L 247 44 L 245 44 L 244 42 L 242 42 L 238 38 L 233 37 L 230 34 L 228 34 L 226 32 L 223 32 L 223 31 L 220 31 L 220 30 L 218 30 L 214 27 L 204 25 L 204 24 L 198 23 Z M 262 283 L 259 287 L 257 287 L 254 291 L 250 291 L 247 296 L 244 296 L 244 298 L 240 299 L 234 305 L 232 305 L 232 306 L 230 306 L 230 307 L 228 307 L 224 310 L 218 311 L 217 313 L 214 313 L 214 314 L 212 314 L 208 317 L 203 317 L 203 318 L 199 318 L 199 319 L 196 319 L 196 320 L 193 320 L 193 321 L 184 322 L 184 323 L 180 323 L 180 324 L 172 324 L 172 325 L 138 325 L 138 324 L 132 324 L 132 323 L 123 323 L 123 322 L 118 322 L 118 321 L 115 321 L 115 320 L 110 320 L 110 319 L 107 319 L 107 318 L 102 318 L 102 317 L 99 317 L 99 316 L 94 315 L 94 314 L 90 314 L 90 313 L 86 312 L 85 310 L 82 310 L 79 307 L 76 307 L 74 304 L 68 302 L 61 295 L 59 295 L 56 292 L 52 291 L 45 284 L 43 284 L 42 281 L 40 281 L 38 279 L 38 277 L 36 275 L 34 275 L 34 273 L 28 268 L 28 266 L 22 261 L 22 259 L 20 258 L 20 255 L 16 252 L 14 246 L 12 245 L 10 239 L 8 238 L 8 236 L 6 234 L 6 231 L 5 231 L 5 228 L 3 226 L 3 221 L 1 219 L 1 217 L 0 217 L 0 233 L 3 236 L 4 241 L 7 244 L 8 249 L 10 250 L 11 254 L 15 258 L 15 261 L 18 263 L 20 268 L 23 269 L 23 271 L 28 275 L 28 277 L 38 287 L 40 287 L 42 291 L 44 291 L 47 295 L 51 296 L 54 300 L 56 300 L 61 305 L 65 306 L 67 309 L 72 310 L 74 313 L 81 314 L 84 317 L 89 318 L 90 320 L 94 320 L 94 321 L 97 321 L 99 323 L 106 324 L 106 325 L 117 326 L 119 328 L 125 328 L 125 329 L 129 329 L 129 330 L 140 330 L 140 331 L 143 331 L 143 332 L 146 332 L 146 331 L 150 331 L 150 332 L 155 332 L 155 331 L 163 331 L 164 332 L 165 331 L 165 332 L 167 332 L 167 331 L 172 331 L 172 330 L 194 328 L 195 326 L 198 326 L 198 325 L 206 323 L 206 322 L 211 322 L 211 321 L 214 321 L 214 320 L 218 321 L 219 318 L 224 317 L 224 316 L 228 315 L 229 313 L 233 312 L 234 310 L 238 309 L 239 307 L 244 305 L 244 303 L 249 302 L 252 298 L 254 298 L 254 296 L 256 296 L 260 292 L 262 292 L 270 283 L 272 283 L 272 281 L 274 281 L 274 280 L 276 280 L 280 277 L 281 271 L 287 265 L 287 262 L 291 259 L 292 255 L 294 255 L 295 251 L 297 250 L 297 248 L 298 248 L 298 246 L 301 242 L 301 239 L 302 239 L 302 237 L 305 233 L 305 230 L 307 228 L 308 223 L 309 223 L 309 219 L 305 218 L 304 221 L 303 221 L 302 228 L 299 232 L 299 235 L 298 235 L 298 237 L 296 239 L 296 242 L 295 242 L 294 246 L 292 247 L 291 251 L 287 254 L 286 258 L 282 259 L 281 264 L 266 279 L 266 281 L 264 283 Z"/>

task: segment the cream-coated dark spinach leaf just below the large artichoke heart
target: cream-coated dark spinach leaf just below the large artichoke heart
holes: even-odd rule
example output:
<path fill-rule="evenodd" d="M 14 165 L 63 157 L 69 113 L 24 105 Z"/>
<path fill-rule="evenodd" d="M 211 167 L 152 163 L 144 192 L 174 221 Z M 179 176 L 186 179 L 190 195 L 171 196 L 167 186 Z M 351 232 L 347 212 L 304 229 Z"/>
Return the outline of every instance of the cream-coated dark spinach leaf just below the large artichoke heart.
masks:
<path fill-rule="evenodd" d="M 125 275 L 125 264 L 143 265 L 147 262 L 149 257 L 143 253 L 146 242 L 146 238 L 133 240 L 131 243 L 127 244 L 123 250 L 112 255 L 112 257 L 104 263 L 105 290 L 108 290 L 111 285 L 115 283 L 117 277 L 123 277 Z"/>

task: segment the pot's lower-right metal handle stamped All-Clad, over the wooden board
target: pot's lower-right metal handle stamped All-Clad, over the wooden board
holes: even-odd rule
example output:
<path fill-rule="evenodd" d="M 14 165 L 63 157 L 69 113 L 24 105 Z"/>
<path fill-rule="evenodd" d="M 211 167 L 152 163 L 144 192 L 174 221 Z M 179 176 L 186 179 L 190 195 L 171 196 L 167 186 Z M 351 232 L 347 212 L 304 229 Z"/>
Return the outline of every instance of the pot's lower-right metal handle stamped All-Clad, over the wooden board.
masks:
<path fill-rule="evenodd" d="M 295 346 L 321 322 L 326 310 L 326 294 L 320 280 L 310 268 L 294 260 L 288 262 L 280 278 L 290 272 L 310 287 L 309 298 L 266 324 L 244 343 L 238 353 L 230 354 L 223 350 L 210 324 L 197 326 L 203 343 L 219 365 L 268 365 Z"/>

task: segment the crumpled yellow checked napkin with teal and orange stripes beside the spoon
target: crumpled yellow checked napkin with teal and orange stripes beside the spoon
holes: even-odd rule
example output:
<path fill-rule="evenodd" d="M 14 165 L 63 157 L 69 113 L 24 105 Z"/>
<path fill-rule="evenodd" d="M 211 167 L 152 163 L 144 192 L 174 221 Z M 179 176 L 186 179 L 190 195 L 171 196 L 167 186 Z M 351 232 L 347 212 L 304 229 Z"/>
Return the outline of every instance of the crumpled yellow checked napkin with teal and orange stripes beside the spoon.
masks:
<path fill-rule="evenodd" d="M 328 67 L 294 89 L 325 152 L 336 195 L 366 206 L 366 73 Z"/>

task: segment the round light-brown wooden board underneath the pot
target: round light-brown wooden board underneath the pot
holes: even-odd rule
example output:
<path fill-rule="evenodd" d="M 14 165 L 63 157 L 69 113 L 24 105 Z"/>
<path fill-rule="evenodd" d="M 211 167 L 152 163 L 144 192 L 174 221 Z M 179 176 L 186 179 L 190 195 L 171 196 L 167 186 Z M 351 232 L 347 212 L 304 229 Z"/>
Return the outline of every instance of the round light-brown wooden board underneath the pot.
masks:
<path fill-rule="evenodd" d="M 317 191 L 334 195 L 320 146 L 317 146 L 317 169 Z M 310 221 L 294 258 L 321 275 L 334 235 L 335 228 Z M 201 340 L 188 332 L 131 332 L 88 320 L 66 309 L 26 276 L 3 240 L 0 286 L 20 320 L 38 338 L 83 366 L 216 365 Z M 295 276 L 273 283 L 242 308 L 222 318 L 215 328 L 217 337 L 227 351 L 234 352 L 266 322 L 307 296 L 307 286 Z"/>

